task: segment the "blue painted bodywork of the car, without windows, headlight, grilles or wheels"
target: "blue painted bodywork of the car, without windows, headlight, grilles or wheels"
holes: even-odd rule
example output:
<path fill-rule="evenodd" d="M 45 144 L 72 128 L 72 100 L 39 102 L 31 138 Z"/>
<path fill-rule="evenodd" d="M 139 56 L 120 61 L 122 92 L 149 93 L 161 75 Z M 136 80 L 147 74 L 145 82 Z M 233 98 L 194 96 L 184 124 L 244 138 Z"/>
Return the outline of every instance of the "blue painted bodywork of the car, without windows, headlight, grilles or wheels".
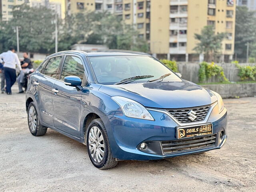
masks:
<path fill-rule="evenodd" d="M 61 72 L 66 55 L 76 55 L 82 58 L 85 76 L 88 82 L 82 84 L 82 89 L 68 86 L 58 78 L 51 78 L 42 73 L 44 66 L 39 67 L 30 75 L 26 100 L 33 100 L 40 123 L 50 127 L 79 142 L 86 143 L 85 124 L 89 114 L 98 115 L 107 130 L 112 155 L 120 160 L 156 160 L 199 153 L 219 149 L 226 141 L 227 110 L 218 111 L 217 97 L 210 90 L 192 82 L 138 82 L 120 85 L 97 84 L 94 79 L 88 57 L 108 55 L 140 55 L 132 53 L 85 53 L 81 51 L 59 52 L 46 58 L 63 56 L 58 72 Z M 45 62 L 47 63 L 47 62 Z M 43 64 L 45 64 L 43 63 Z M 72 79 L 74 81 L 72 81 Z M 77 78 L 70 77 L 68 82 L 77 83 Z M 35 85 L 38 82 L 39 85 Z M 52 90 L 58 90 L 53 92 Z M 154 121 L 130 118 L 123 114 L 120 106 L 111 98 L 122 96 L 132 99 L 145 106 Z M 212 105 L 207 122 L 212 123 L 216 134 L 216 145 L 209 148 L 199 148 L 173 154 L 153 154 L 140 150 L 139 146 L 146 141 L 175 141 L 176 127 L 180 126 L 172 116 L 164 113 L 166 109 L 193 108 Z M 158 110 L 158 111 L 157 111 Z M 159 111 L 160 110 L 160 111 Z M 193 125 L 200 125 L 197 122 Z M 224 136 L 220 138 L 220 132 Z"/>

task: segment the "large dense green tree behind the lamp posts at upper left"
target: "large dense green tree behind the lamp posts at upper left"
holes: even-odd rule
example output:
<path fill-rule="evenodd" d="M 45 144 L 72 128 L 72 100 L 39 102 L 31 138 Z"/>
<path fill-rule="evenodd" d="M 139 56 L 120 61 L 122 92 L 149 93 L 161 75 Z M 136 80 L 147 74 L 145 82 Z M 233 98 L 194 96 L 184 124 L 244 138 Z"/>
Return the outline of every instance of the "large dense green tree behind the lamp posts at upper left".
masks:
<path fill-rule="evenodd" d="M 18 26 L 21 51 L 50 52 L 54 44 L 54 18 L 52 11 L 45 7 L 14 6 L 12 20 L 0 24 L 1 51 L 16 45 L 14 30 Z"/>

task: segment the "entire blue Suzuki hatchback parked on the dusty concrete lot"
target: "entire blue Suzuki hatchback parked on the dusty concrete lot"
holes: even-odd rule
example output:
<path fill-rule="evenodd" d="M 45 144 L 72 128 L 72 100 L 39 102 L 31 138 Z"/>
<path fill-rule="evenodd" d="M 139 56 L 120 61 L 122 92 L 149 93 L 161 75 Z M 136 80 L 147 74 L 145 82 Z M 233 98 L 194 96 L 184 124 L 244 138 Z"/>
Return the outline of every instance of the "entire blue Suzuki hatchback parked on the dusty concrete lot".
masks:
<path fill-rule="evenodd" d="M 26 109 L 34 136 L 52 128 L 82 142 L 100 169 L 219 149 L 227 139 L 221 96 L 147 54 L 52 54 L 29 77 Z"/>

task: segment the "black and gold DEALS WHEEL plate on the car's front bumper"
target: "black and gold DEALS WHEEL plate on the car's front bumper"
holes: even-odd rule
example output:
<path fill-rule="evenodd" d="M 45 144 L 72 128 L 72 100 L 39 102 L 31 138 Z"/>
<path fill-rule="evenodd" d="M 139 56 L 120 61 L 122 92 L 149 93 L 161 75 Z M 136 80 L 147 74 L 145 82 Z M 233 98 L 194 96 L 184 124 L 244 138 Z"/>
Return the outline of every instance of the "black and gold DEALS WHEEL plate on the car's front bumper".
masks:
<path fill-rule="evenodd" d="M 178 139 L 208 135 L 212 134 L 212 124 L 177 127 L 176 133 Z"/>

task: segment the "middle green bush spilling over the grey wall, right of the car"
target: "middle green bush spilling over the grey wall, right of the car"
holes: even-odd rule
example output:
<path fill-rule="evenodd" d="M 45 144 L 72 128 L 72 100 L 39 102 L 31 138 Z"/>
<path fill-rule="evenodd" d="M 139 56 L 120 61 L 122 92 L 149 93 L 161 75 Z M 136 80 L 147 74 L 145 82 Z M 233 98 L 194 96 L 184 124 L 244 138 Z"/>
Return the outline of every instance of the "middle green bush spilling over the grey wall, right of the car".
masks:
<path fill-rule="evenodd" d="M 228 82 L 228 79 L 226 78 L 224 70 L 221 66 L 214 64 L 214 62 L 211 64 L 208 62 L 202 62 L 199 65 L 199 82 L 204 82 L 210 79 L 212 76 L 218 76 L 220 82 Z"/>

